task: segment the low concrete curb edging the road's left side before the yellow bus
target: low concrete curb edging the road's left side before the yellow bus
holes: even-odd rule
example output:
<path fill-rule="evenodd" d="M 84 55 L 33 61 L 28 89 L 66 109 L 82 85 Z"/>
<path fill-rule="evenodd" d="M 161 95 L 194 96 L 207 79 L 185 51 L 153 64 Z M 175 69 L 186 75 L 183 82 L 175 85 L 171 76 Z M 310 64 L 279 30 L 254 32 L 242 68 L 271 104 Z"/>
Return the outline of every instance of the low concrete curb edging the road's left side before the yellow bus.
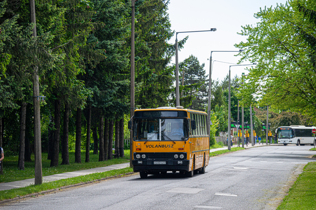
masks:
<path fill-rule="evenodd" d="M 78 184 L 72 184 L 72 185 L 68 185 L 68 186 L 64 186 L 64 187 L 60 187 L 60 188 L 56 188 L 56 189 L 50 189 L 50 190 L 41 191 L 39 193 L 33 193 L 33 194 L 29 194 L 29 195 L 24 195 L 24 196 L 21 196 L 21 197 L 7 199 L 7 200 L 0 201 L 0 205 L 4 204 L 4 203 L 9 203 L 9 202 L 12 202 L 12 201 L 22 200 L 24 198 L 29 198 L 29 197 L 32 197 L 32 196 L 35 197 L 35 196 L 40 195 L 40 194 L 51 193 L 51 192 L 55 192 L 55 191 L 62 190 L 62 189 L 72 188 L 72 187 L 79 187 L 79 186 L 82 186 L 82 185 L 85 185 L 85 184 L 91 184 L 91 183 L 94 183 L 94 182 L 100 182 L 100 181 L 104 181 L 104 180 L 107 180 L 107 179 L 121 177 L 122 175 L 123 176 L 131 175 L 131 174 L 134 174 L 134 173 L 136 173 L 136 172 L 129 172 L 129 173 L 126 173 L 126 174 L 119 174 L 119 175 L 116 175 L 116 176 L 105 177 L 105 178 L 101 178 L 101 179 L 95 179 L 95 180 L 89 181 L 89 182 L 82 182 L 82 183 L 78 183 Z"/>

